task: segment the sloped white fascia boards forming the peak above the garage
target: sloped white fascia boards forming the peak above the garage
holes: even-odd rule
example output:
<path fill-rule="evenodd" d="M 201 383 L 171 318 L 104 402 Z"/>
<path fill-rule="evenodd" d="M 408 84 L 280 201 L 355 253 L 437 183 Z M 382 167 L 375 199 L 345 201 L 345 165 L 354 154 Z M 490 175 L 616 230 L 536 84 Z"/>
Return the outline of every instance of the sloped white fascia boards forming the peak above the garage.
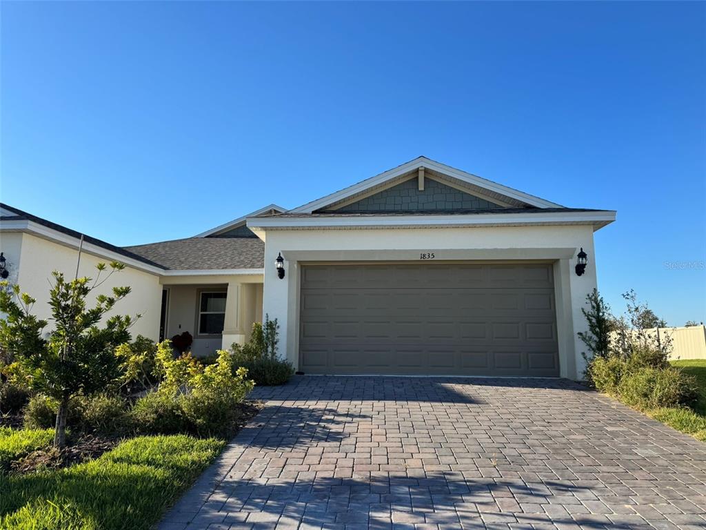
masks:
<path fill-rule="evenodd" d="M 298 208 L 294 208 L 290 211 L 292 213 L 311 213 L 315 210 L 324 208 L 329 204 L 334 204 L 338 201 L 347 199 L 349 196 L 364 192 L 366 189 L 383 184 L 384 182 L 390 179 L 400 177 L 400 175 L 405 175 L 405 173 L 418 169 L 419 167 L 429 168 L 433 171 L 442 173 L 443 175 L 448 175 L 449 177 L 459 179 L 462 182 L 468 182 L 469 184 L 474 184 L 475 186 L 487 189 L 491 192 L 502 194 L 511 197 L 512 199 L 517 199 L 518 201 L 522 201 L 532 206 L 537 206 L 537 208 L 563 207 L 561 206 L 561 204 L 556 204 L 551 201 L 540 199 L 539 197 L 520 192 L 517 189 L 503 186 L 502 184 L 498 184 L 497 182 L 478 177 L 477 175 L 472 175 L 472 173 L 457 170 L 454 167 L 450 167 L 448 165 L 435 162 L 434 160 L 431 160 L 424 156 L 420 156 L 419 158 L 415 158 L 414 160 L 410 160 L 405 164 L 394 167 L 391 170 L 385 171 L 380 175 L 370 177 L 369 179 L 365 179 L 364 181 L 359 182 L 358 184 L 354 184 L 353 186 L 347 187 L 345 189 L 340 190 L 339 192 L 335 192 L 333 194 L 322 197 L 321 199 L 316 199 L 316 201 L 311 201 L 307 204 L 304 204 L 303 206 L 299 206 Z"/>

